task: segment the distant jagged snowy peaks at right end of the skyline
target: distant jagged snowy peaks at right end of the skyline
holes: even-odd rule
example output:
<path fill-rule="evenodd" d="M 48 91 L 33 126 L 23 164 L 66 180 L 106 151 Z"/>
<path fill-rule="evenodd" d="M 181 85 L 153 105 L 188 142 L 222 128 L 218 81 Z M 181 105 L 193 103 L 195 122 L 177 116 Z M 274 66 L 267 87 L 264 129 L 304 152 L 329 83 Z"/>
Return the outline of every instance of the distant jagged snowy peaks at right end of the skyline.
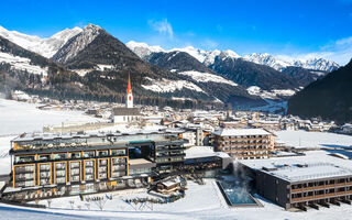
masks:
<path fill-rule="evenodd" d="M 270 66 L 276 70 L 284 70 L 288 66 L 301 67 L 310 70 L 319 70 L 319 72 L 332 72 L 339 68 L 339 65 L 334 62 L 324 59 L 324 58 L 310 58 L 310 59 L 279 59 L 274 57 L 271 54 L 250 54 L 243 57 L 249 62 L 253 62 L 256 64 Z"/>

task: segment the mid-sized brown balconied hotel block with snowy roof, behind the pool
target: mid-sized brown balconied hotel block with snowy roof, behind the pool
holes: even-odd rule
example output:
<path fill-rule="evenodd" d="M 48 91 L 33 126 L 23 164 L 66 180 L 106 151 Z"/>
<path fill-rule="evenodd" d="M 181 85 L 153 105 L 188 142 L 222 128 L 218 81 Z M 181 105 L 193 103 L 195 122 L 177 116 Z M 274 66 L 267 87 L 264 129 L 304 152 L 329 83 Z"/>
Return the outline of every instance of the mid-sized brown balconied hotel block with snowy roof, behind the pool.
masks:
<path fill-rule="evenodd" d="M 216 151 L 238 160 L 267 158 L 275 147 L 275 135 L 263 129 L 220 129 L 212 133 Z"/>

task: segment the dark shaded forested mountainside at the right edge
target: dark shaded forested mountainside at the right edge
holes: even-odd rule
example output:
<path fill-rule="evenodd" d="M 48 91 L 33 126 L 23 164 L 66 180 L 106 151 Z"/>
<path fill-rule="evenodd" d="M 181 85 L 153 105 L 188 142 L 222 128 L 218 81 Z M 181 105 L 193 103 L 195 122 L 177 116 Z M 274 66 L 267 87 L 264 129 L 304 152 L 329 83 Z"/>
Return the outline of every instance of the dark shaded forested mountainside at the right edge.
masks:
<path fill-rule="evenodd" d="M 288 100 L 288 113 L 320 117 L 338 123 L 352 121 L 352 59 L 308 85 Z"/>

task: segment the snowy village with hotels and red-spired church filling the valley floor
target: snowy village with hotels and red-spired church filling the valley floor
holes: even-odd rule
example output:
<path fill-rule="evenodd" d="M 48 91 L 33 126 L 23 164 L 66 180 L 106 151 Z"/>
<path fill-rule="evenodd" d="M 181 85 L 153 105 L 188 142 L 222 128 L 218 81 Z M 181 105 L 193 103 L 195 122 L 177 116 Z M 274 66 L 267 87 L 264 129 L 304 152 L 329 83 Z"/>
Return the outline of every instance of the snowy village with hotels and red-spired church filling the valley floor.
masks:
<path fill-rule="evenodd" d="M 12 99 L 1 101 L 41 112 L 78 111 L 89 120 L 0 138 L 1 163 L 8 163 L 0 176 L 4 206 L 131 219 L 145 211 L 162 219 L 180 211 L 204 219 L 252 210 L 250 218 L 270 218 L 273 210 L 278 218 L 352 211 L 350 124 L 135 106 L 130 78 L 124 105 L 62 102 L 23 91 Z"/>

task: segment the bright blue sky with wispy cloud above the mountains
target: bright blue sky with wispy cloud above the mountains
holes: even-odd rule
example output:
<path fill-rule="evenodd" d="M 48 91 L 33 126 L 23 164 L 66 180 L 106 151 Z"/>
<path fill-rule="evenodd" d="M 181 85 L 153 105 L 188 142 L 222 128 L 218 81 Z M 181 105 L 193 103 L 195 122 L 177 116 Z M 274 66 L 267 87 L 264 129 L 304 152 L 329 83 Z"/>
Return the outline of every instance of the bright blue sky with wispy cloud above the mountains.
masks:
<path fill-rule="evenodd" d="M 1 8 L 0 25 L 41 37 L 94 23 L 124 43 L 164 48 L 322 56 L 339 64 L 352 57 L 352 0 L 7 0 Z"/>

